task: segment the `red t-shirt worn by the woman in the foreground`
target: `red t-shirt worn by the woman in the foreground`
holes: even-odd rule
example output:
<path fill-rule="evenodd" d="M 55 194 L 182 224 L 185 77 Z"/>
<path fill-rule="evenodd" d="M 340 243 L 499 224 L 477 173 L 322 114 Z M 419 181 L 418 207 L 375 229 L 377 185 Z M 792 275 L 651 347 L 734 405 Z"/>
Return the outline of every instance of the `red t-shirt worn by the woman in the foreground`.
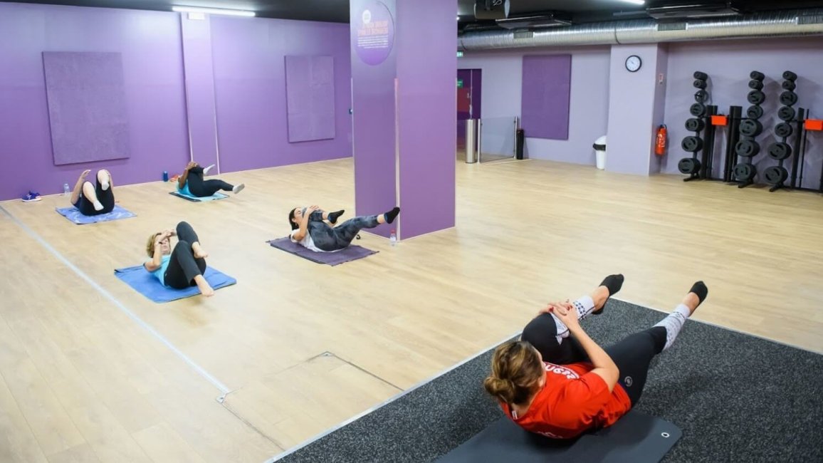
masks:
<path fill-rule="evenodd" d="M 592 428 L 605 428 L 631 408 L 629 395 L 619 384 L 609 392 L 606 381 L 591 371 L 591 363 L 546 366 L 546 386 L 523 416 L 513 417 L 509 405 L 501 403 L 506 416 L 523 429 L 556 439 L 570 439 Z"/>

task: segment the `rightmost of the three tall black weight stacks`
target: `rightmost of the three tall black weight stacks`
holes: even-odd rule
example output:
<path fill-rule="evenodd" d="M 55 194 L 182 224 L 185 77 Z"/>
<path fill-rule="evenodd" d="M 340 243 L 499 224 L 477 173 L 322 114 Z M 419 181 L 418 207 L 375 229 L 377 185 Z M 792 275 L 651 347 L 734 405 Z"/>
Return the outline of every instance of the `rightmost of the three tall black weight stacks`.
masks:
<path fill-rule="evenodd" d="M 793 177 L 797 175 L 797 158 L 800 154 L 802 121 L 806 119 L 806 110 L 800 108 L 800 110 L 796 112 L 793 108 L 793 105 L 797 103 L 797 93 L 794 92 L 794 89 L 797 88 L 796 81 L 797 74 L 791 71 L 783 72 L 783 83 L 781 87 L 783 87 L 784 91 L 780 94 L 780 104 L 782 104 L 783 107 L 778 110 L 778 117 L 783 122 L 774 127 L 774 136 L 780 138 L 780 141 L 772 143 L 766 152 L 770 158 L 778 161 L 779 165 L 768 167 L 763 172 L 766 183 L 772 185 L 769 189 L 772 193 L 778 189 L 786 188 L 785 182 L 788 180 L 788 169 L 783 166 L 783 163 L 791 157 L 792 154 L 794 154 Z M 797 130 L 792 127 L 792 123 L 795 124 Z M 786 143 L 786 140 L 791 137 L 795 131 L 797 132 L 797 137 L 795 139 L 794 149 L 792 149 L 792 146 Z M 795 181 L 796 179 L 793 179 L 792 186 L 794 186 Z"/>

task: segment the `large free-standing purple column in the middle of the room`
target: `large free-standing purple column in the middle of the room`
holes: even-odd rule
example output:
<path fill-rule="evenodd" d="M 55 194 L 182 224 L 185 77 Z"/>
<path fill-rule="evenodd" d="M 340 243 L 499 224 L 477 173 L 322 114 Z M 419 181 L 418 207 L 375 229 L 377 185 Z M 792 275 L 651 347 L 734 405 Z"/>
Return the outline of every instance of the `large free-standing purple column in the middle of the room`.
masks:
<path fill-rule="evenodd" d="M 457 2 L 350 5 L 357 213 L 397 203 L 401 218 L 382 236 L 453 227 Z"/>

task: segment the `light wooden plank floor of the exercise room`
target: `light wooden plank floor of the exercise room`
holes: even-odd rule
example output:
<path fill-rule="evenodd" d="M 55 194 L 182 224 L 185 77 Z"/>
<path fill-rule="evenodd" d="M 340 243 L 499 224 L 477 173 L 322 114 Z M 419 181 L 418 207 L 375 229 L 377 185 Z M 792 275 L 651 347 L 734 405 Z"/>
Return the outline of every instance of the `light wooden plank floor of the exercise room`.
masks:
<path fill-rule="evenodd" d="M 818 194 L 458 162 L 458 227 L 396 247 L 363 234 L 379 254 L 332 268 L 264 241 L 295 205 L 351 217 L 351 160 L 223 178 L 247 189 L 117 187 L 137 217 L 96 225 L 54 213 L 62 196 L 0 203 L 0 461 L 264 461 L 614 272 L 622 299 L 663 311 L 704 279 L 696 319 L 823 352 Z M 179 219 L 239 283 L 155 304 L 113 269 Z"/>

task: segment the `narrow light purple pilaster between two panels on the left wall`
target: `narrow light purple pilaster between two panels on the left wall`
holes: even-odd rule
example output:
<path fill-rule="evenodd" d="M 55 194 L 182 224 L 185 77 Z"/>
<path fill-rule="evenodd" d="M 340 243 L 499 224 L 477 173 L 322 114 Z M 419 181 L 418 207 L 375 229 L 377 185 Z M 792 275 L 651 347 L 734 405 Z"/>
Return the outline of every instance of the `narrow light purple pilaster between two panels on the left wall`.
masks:
<path fill-rule="evenodd" d="M 183 33 L 186 115 L 191 158 L 201 166 L 216 164 L 215 173 L 220 173 L 211 21 L 208 15 L 181 13 L 180 26 Z M 182 169 L 183 166 L 180 166 L 181 171 Z"/>

